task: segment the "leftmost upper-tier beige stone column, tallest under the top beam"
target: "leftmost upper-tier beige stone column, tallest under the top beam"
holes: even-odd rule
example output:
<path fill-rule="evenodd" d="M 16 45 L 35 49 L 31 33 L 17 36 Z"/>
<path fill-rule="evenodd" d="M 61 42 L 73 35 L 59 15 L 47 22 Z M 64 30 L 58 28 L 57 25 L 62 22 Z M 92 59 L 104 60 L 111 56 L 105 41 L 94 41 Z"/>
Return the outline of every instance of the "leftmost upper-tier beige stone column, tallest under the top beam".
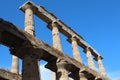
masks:
<path fill-rule="evenodd" d="M 33 10 L 30 5 L 28 5 L 25 9 L 25 31 L 31 35 L 35 35 Z"/>

